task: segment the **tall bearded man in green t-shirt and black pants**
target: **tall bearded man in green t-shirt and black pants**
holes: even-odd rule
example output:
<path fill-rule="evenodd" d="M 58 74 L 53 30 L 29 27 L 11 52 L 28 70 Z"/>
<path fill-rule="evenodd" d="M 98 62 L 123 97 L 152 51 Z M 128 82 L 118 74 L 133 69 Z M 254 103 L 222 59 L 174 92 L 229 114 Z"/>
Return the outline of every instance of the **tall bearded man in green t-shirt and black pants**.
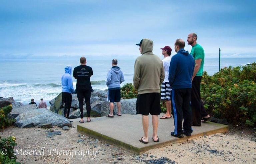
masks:
<path fill-rule="evenodd" d="M 201 126 L 201 122 L 207 121 L 210 115 L 206 112 L 200 94 L 200 84 L 204 69 L 204 49 L 197 44 L 197 35 L 191 33 L 188 35 L 188 44 L 192 46 L 190 54 L 195 59 L 195 69 L 192 77 L 191 106 L 192 106 L 192 125 Z"/>

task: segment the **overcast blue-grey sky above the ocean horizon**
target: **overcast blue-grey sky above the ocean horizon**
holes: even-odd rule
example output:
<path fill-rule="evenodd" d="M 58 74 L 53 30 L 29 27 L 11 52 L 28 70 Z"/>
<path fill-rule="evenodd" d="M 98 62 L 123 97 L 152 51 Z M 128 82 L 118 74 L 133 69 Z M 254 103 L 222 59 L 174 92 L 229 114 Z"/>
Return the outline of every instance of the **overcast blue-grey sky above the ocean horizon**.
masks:
<path fill-rule="evenodd" d="M 138 56 L 135 44 L 143 38 L 154 42 L 159 55 L 166 45 L 174 51 L 175 40 L 192 32 L 206 58 L 218 58 L 219 48 L 223 57 L 256 57 L 255 0 L 0 2 L 1 58 Z"/>

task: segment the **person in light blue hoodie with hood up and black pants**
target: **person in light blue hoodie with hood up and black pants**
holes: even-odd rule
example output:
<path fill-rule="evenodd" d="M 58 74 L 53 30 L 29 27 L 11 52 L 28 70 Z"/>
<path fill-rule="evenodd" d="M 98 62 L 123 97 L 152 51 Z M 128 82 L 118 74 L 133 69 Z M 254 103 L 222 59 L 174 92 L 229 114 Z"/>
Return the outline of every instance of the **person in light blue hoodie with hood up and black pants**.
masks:
<path fill-rule="evenodd" d="M 64 115 L 66 118 L 69 117 L 71 102 L 72 102 L 72 93 L 74 93 L 73 80 L 71 77 L 72 68 L 71 66 L 65 67 L 65 74 L 61 77 L 61 87 L 62 87 L 62 98 L 65 103 Z"/>

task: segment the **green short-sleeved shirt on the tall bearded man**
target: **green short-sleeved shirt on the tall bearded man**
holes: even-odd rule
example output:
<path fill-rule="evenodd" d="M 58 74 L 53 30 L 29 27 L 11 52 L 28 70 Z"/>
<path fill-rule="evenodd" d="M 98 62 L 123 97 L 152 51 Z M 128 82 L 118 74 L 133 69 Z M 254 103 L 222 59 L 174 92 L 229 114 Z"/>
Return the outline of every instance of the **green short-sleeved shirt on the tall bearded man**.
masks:
<path fill-rule="evenodd" d="M 194 57 L 195 60 L 202 59 L 201 67 L 200 67 L 198 73 L 196 74 L 196 76 L 203 76 L 203 69 L 204 69 L 204 49 L 203 49 L 203 47 L 200 46 L 199 44 L 196 44 L 195 46 L 192 47 L 190 54 Z"/>

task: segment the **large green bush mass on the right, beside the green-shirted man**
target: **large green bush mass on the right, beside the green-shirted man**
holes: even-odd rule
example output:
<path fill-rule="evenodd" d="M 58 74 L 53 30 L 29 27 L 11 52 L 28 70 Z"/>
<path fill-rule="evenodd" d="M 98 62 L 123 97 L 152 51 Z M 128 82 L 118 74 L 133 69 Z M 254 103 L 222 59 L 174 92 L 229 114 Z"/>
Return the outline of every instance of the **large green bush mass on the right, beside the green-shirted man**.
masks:
<path fill-rule="evenodd" d="M 256 123 L 256 63 L 225 67 L 213 76 L 204 72 L 201 98 L 207 111 L 230 123 L 254 126 Z"/>

